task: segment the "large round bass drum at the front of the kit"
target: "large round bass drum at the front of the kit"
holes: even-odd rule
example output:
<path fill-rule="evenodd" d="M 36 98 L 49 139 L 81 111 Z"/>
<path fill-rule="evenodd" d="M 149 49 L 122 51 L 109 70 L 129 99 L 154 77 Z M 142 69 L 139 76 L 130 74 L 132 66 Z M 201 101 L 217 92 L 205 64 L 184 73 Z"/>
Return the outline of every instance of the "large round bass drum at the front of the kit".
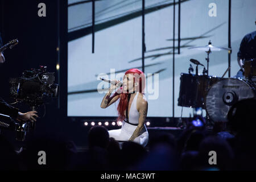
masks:
<path fill-rule="evenodd" d="M 230 107 L 237 101 L 255 97 L 255 88 L 248 82 L 224 78 L 214 84 L 205 98 L 205 107 L 210 119 L 214 122 L 227 122 Z"/>

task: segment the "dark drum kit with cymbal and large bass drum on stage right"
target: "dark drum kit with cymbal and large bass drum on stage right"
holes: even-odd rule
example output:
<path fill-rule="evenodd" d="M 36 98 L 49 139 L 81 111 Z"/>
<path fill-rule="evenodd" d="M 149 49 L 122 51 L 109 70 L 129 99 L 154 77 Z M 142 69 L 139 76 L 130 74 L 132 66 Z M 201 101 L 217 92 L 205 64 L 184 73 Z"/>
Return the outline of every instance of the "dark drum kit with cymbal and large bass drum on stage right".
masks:
<path fill-rule="evenodd" d="M 230 107 L 237 101 L 256 96 L 256 60 L 245 61 L 243 78 L 223 78 L 209 76 L 209 54 L 212 51 L 231 51 L 230 48 L 212 46 L 191 47 L 207 53 L 207 69 L 199 61 L 191 59 L 196 65 L 196 74 L 190 65 L 189 73 L 181 73 L 180 92 L 178 106 L 197 108 L 201 107 L 207 111 L 207 119 L 213 122 L 227 122 L 227 115 Z M 198 74 L 198 66 L 204 67 L 203 75 Z"/>

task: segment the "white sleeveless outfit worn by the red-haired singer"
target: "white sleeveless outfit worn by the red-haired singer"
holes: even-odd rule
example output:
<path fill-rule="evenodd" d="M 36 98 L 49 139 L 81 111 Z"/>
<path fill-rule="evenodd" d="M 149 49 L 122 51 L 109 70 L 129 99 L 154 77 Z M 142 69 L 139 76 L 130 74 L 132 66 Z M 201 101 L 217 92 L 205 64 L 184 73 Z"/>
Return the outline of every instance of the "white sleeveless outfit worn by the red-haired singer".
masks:
<path fill-rule="evenodd" d="M 131 135 L 133 135 L 134 130 L 137 128 L 139 123 L 139 112 L 137 110 L 137 99 L 139 93 L 136 93 L 136 96 L 131 103 L 131 107 L 129 110 L 129 123 L 126 120 L 122 121 L 122 127 L 118 130 L 109 130 L 109 137 L 113 137 L 118 142 L 124 142 L 130 139 Z M 143 95 L 143 99 L 146 99 L 146 96 Z M 137 138 L 133 140 L 133 142 L 141 144 L 143 147 L 147 145 L 148 142 L 148 132 L 146 126 L 144 125 L 141 133 Z"/>

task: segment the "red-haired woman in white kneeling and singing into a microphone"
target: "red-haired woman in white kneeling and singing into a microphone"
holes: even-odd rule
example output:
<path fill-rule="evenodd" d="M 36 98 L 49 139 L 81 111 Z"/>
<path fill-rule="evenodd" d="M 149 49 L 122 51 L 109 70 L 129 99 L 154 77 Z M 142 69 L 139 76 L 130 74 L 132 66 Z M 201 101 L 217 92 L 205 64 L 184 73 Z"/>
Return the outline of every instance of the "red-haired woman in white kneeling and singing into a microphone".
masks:
<path fill-rule="evenodd" d="M 123 83 L 115 81 L 116 85 L 111 85 L 109 92 L 101 102 L 101 108 L 112 105 L 119 99 L 117 107 L 117 122 L 122 122 L 121 129 L 110 130 L 109 137 L 113 137 L 119 142 L 133 141 L 141 144 L 143 147 L 148 142 L 148 132 L 145 126 L 147 117 L 147 99 L 144 96 L 146 78 L 139 69 L 129 69 L 123 77 Z M 110 97 L 113 90 L 121 86 Z M 128 114 L 129 113 L 129 114 Z"/>

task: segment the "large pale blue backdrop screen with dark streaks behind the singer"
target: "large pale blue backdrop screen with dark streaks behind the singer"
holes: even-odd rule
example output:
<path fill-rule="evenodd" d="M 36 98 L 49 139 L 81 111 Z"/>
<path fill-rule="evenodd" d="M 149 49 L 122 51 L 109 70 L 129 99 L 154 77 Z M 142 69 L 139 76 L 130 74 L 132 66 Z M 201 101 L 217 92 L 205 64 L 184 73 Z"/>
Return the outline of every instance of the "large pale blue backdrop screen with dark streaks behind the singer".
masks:
<path fill-rule="evenodd" d="M 173 0 L 146 0 L 144 71 L 146 75 L 153 74 L 151 77 L 153 81 L 158 80 L 158 88 L 147 84 L 148 88 L 154 88 L 155 91 L 145 93 L 148 99 L 148 117 L 172 117 L 173 71 L 175 71 L 175 117 L 180 117 L 181 107 L 177 106 L 180 74 L 188 73 L 190 59 L 199 60 L 207 65 L 206 53 L 188 49 L 189 47 L 205 46 L 209 40 L 214 46 L 228 47 L 228 0 L 181 1 L 181 48 L 180 54 L 177 54 L 175 49 L 175 68 L 173 68 L 173 2 Z M 216 5 L 216 16 L 209 15 L 212 9 L 210 3 Z M 92 53 L 92 2 L 69 0 L 68 4 L 68 116 L 116 117 L 118 101 L 108 109 L 100 107 L 105 93 L 98 92 L 97 88 L 101 81 L 97 78 L 100 75 L 113 78 L 110 77 L 110 72 L 120 76 L 131 68 L 142 70 L 142 1 L 95 2 L 94 53 Z M 177 39 L 178 5 L 176 4 L 175 7 L 175 39 Z M 255 31 L 255 7 L 254 0 L 232 0 L 232 76 L 239 70 L 237 52 L 243 36 Z M 193 67 L 195 69 L 195 65 Z M 228 52 L 212 52 L 209 75 L 221 77 L 227 68 Z M 202 72 L 203 67 L 199 67 L 199 73 Z M 158 77 L 154 76 L 154 73 L 158 73 Z M 228 77 L 228 74 L 225 77 Z M 105 86 L 108 88 L 110 85 L 105 84 Z M 153 95 L 157 97 L 150 99 Z M 188 117 L 190 113 L 192 113 L 191 108 L 183 107 L 183 117 Z"/>

